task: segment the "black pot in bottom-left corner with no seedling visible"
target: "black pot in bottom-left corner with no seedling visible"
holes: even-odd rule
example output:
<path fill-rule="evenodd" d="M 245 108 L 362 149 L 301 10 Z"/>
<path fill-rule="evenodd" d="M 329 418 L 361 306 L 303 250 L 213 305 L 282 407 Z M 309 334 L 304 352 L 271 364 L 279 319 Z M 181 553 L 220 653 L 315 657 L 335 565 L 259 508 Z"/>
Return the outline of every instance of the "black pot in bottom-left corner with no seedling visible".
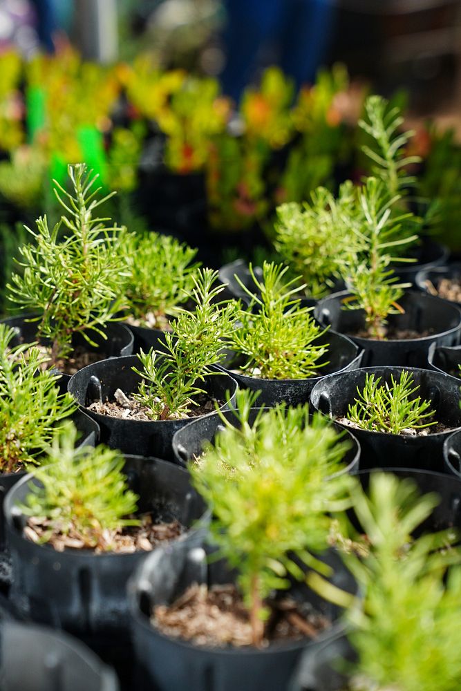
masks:
<path fill-rule="evenodd" d="M 115 672 L 86 645 L 30 623 L 0 624 L 2 691 L 118 691 Z"/>

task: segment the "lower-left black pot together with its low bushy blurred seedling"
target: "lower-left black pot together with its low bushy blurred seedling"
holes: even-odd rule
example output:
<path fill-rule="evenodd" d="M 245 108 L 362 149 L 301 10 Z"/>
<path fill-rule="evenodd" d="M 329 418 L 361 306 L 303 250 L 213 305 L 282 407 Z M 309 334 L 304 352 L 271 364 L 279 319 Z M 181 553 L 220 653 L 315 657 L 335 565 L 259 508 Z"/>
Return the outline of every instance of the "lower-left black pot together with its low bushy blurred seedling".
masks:
<path fill-rule="evenodd" d="M 10 598 L 32 621 L 88 640 L 126 637 L 131 571 L 162 540 L 185 538 L 203 501 L 182 468 L 104 446 L 75 448 L 70 425 L 47 460 L 6 498 Z"/>

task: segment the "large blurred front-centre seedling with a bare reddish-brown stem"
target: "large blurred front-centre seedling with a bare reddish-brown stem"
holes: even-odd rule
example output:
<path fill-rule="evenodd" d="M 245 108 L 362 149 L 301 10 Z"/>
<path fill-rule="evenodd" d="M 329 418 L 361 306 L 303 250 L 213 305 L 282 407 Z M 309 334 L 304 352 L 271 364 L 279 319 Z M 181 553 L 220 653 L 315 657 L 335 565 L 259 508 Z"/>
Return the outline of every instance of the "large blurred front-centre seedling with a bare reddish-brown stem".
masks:
<path fill-rule="evenodd" d="M 294 413 L 304 414 L 301 408 Z M 227 428 L 219 448 L 209 448 L 190 468 L 196 489 L 213 508 L 211 540 L 237 571 L 255 645 L 263 640 L 272 591 L 290 587 L 290 578 L 305 579 L 299 562 L 328 575 L 313 552 L 326 548 L 328 512 L 350 505 L 354 482 L 347 474 L 329 477 L 330 446 L 321 424 L 309 435 L 300 430 L 283 448 L 280 427 L 270 422 L 261 417 L 252 437 Z"/>

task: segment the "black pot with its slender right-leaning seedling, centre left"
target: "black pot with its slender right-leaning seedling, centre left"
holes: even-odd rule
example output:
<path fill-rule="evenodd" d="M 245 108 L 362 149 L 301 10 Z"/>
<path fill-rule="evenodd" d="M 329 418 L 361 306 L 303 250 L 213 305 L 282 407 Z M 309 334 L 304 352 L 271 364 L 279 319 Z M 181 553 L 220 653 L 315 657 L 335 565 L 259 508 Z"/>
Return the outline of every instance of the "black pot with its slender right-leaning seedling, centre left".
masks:
<path fill-rule="evenodd" d="M 234 379 L 216 368 L 223 340 L 234 329 L 239 303 L 219 301 L 218 274 L 199 269 L 191 310 L 171 319 L 162 350 L 90 365 L 70 380 L 69 391 L 101 427 L 101 438 L 125 453 L 173 460 L 171 439 L 194 415 L 225 406 Z"/>

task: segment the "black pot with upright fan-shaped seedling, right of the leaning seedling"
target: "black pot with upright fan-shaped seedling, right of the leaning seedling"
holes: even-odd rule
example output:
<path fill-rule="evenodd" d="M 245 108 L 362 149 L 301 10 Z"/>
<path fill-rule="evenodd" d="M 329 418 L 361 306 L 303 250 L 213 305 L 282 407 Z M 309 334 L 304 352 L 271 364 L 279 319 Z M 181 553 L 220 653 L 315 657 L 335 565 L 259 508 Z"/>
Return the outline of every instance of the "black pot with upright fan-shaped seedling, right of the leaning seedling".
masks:
<path fill-rule="evenodd" d="M 297 297 L 303 285 L 285 278 L 288 267 L 265 262 L 262 271 L 259 281 L 250 265 L 259 296 L 245 289 L 252 302 L 227 338 L 223 369 L 239 386 L 261 391 L 259 404 L 295 406 L 308 401 L 319 378 L 358 367 L 361 354 L 352 341 L 314 321 Z"/>

